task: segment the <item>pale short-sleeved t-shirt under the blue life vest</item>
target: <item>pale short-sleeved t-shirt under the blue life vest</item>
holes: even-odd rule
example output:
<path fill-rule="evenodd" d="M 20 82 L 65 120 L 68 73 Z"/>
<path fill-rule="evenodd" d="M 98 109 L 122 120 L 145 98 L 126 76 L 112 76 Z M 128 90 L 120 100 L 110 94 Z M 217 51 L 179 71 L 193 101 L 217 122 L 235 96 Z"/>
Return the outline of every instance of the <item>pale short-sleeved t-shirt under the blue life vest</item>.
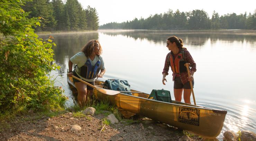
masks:
<path fill-rule="evenodd" d="M 85 56 L 85 54 L 83 52 L 76 53 L 76 55 L 74 55 L 73 57 L 70 58 L 70 61 L 73 64 L 76 64 L 77 67 L 79 67 L 79 68 L 82 67 L 86 63 L 86 60 L 87 60 L 87 57 Z M 89 58 L 89 61 L 92 66 L 94 66 L 98 60 L 100 60 L 100 70 L 105 69 L 102 56 L 95 55 L 93 61 L 91 60 L 91 58 Z M 88 82 L 93 82 L 95 79 L 96 78 L 92 78 L 92 79 L 83 78 L 83 80 L 88 81 Z"/>

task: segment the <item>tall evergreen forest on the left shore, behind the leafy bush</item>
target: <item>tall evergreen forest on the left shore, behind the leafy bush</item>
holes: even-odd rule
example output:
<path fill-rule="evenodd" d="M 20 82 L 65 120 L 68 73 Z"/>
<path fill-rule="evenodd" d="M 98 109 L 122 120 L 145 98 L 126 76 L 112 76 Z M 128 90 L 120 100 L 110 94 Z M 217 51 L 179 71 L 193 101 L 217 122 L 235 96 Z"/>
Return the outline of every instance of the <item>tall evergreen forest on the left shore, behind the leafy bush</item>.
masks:
<path fill-rule="evenodd" d="M 30 0 L 22 6 L 28 18 L 40 17 L 36 31 L 84 31 L 98 30 L 97 10 L 88 6 L 83 9 L 77 0 Z"/>

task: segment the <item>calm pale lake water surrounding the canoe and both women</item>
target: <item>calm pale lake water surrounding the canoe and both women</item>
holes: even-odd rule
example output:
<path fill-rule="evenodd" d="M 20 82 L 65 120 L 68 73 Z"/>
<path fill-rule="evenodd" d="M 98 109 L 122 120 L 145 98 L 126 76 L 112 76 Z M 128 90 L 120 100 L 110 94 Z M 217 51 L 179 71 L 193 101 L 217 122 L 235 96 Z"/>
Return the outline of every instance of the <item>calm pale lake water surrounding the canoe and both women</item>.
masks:
<path fill-rule="evenodd" d="M 163 88 L 170 90 L 174 99 L 171 69 L 166 85 L 162 84 L 162 71 L 169 52 L 166 39 L 175 35 L 183 39 L 196 62 L 196 104 L 228 111 L 219 139 L 226 130 L 256 132 L 256 31 L 99 30 L 39 37 L 46 39 L 49 35 L 55 38 L 54 59 L 61 66 L 52 75 L 69 97 L 68 106 L 77 100 L 67 84 L 68 60 L 92 39 L 99 40 L 103 48 L 106 74 L 102 80 L 128 80 L 132 89 L 148 94 Z"/>

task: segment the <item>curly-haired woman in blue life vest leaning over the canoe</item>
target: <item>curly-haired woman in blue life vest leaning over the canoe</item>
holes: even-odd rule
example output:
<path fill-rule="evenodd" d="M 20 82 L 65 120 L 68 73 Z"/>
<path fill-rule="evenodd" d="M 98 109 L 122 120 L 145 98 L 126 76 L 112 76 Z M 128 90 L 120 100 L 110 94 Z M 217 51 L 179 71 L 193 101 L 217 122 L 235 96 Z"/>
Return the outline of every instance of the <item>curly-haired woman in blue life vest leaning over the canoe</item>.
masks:
<path fill-rule="evenodd" d="M 81 50 L 68 61 L 68 77 L 72 75 L 83 79 L 94 85 L 94 81 L 98 77 L 102 77 L 106 72 L 102 56 L 102 48 L 98 40 L 89 41 Z M 73 64 L 76 64 L 72 71 Z M 83 106 L 89 95 L 93 94 L 93 88 L 73 78 L 76 89 L 78 91 L 77 102 Z"/>

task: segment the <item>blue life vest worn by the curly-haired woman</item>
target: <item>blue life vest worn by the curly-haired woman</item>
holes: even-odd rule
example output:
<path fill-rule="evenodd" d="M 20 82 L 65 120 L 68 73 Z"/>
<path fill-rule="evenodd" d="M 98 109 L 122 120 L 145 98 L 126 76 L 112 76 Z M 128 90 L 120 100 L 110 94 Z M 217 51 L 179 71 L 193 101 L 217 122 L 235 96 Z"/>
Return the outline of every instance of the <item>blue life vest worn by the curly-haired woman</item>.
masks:
<path fill-rule="evenodd" d="M 75 71 L 79 77 L 86 79 L 96 78 L 100 72 L 100 60 L 98 60 L 96 64 L 92 66 L 88 58 L 82 67 L 79 68 L 76 66 Z"/>

